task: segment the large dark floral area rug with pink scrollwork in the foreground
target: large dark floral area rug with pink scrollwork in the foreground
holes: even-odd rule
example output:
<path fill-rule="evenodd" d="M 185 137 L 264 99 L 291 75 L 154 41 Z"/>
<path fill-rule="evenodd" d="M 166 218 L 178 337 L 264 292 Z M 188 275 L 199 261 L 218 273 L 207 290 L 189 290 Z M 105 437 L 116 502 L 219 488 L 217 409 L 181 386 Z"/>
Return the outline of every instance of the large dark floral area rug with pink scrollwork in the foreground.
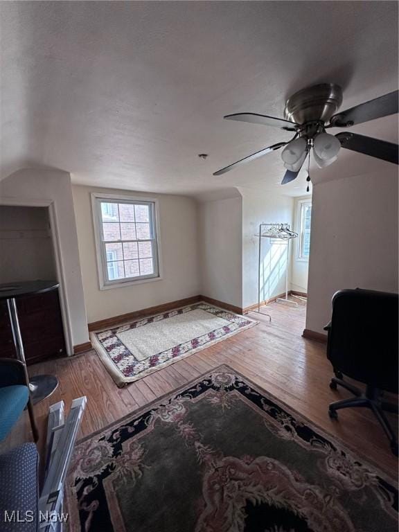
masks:
<path fill-rule="evenodd" d="M 76 446 L 70 531 L 393 532 L 398 491 L 227 366 Z"/>

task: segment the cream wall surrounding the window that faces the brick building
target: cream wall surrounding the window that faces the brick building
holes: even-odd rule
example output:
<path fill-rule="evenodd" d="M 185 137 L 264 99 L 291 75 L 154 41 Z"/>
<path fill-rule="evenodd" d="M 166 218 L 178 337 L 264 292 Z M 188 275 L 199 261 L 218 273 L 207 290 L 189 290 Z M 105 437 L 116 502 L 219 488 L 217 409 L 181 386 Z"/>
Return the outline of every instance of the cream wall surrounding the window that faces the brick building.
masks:
<path fill-rule="evenodd" d="M 89 323 L 199 294 L 197 203 L 184 196 L 144 194 L 159 200 L 163 275 L 160 280 L 100 290 L 91 192 L 143 195 L 126 190 L 73 186 L 73 202 Z"/>

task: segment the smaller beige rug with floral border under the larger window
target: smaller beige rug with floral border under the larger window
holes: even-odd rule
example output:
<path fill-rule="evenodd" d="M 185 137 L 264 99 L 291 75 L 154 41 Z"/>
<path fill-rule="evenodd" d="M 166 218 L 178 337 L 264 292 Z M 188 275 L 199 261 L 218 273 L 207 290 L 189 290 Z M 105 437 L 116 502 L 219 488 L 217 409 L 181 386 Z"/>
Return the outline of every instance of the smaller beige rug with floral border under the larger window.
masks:
<path fill-rule="evenodd" d="M 118 386 L 227 339 L 258 321 L 194 303 L 121 327 L 91 332 L 91 344 Z"/>

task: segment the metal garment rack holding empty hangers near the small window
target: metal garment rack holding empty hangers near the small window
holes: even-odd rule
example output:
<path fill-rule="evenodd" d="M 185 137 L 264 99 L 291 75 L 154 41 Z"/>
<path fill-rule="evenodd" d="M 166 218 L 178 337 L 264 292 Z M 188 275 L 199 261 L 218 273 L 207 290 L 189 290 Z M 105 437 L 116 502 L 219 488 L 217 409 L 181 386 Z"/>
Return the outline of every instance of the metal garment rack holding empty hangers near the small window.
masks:
<path fill-rule="evenodd" d="M 292 238 L 297 238 L 298 233 L 295 233 L 290 229 L 289 224 L 259 224 L 258 232 L 258 314 L 264 314 L 269 317 L 269 321 L 272 321 L 270 314 L 260 311 L 260 268 L 262 265 L 262 238 L 270 238 L 271 240 L 281 240 L 281 242 L 287 242 L 287 259 L 286 259 L 286 268 L 285 268 L 285 298 L 278 297 L 278 303 L 288 303 L 289 305 L 297 306 L 296 301 L 291 301 L 288 299 L 288 266 L 290 264 L 290 240 Z M 270 257 L 270 272 L 272 272 L 272 257 Z"/>

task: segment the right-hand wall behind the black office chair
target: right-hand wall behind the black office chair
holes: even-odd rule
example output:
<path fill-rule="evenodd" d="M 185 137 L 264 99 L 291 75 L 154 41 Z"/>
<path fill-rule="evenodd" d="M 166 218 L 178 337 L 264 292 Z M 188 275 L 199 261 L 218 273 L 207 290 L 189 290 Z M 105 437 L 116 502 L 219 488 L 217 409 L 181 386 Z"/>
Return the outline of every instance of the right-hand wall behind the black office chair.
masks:
<path fill-rule="evenodd" d="M 398 292 L 396 167 L 314 184 L 306 328 L 323 332 L 332 295 L 356 287 Z"/>

